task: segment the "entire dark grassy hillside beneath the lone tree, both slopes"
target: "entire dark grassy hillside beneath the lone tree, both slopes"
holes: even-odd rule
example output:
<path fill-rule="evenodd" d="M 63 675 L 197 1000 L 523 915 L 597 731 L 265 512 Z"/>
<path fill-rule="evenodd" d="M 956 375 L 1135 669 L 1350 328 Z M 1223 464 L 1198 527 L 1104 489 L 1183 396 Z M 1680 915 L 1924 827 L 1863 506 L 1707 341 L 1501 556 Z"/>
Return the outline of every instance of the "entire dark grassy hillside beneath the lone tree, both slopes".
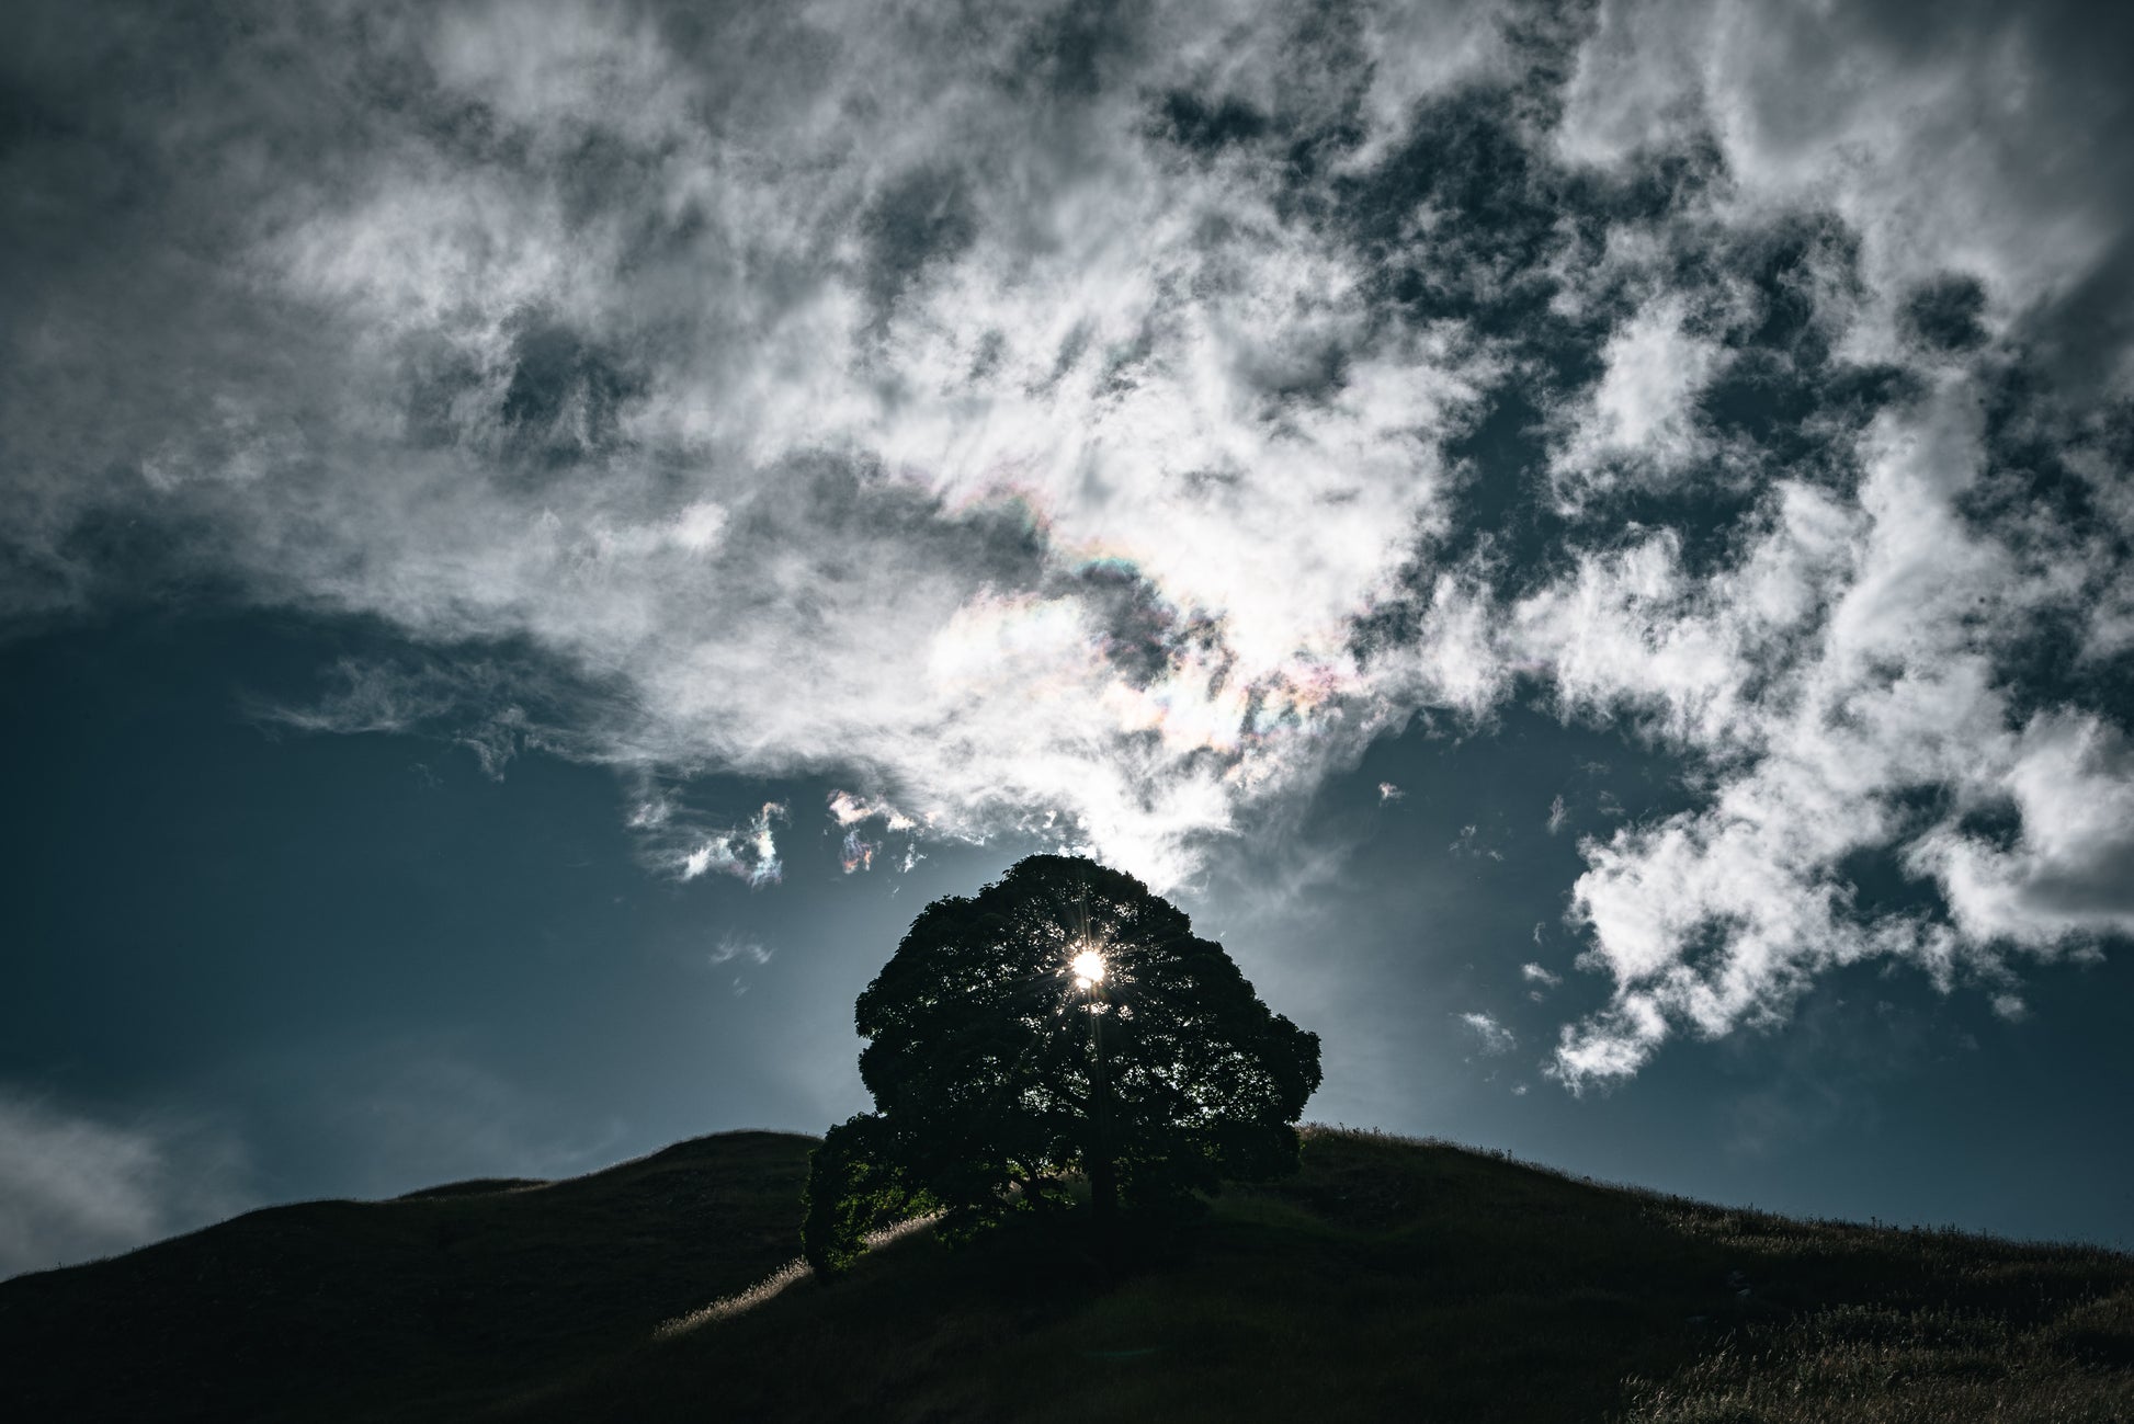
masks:
<path fill-rule="evenodd" d="M 1357 1132 L 1125 1268 L 1078 1230 L 918 1232 L 700 1309 L 792 1256 L 807 1147 L 254 1213 L 0 1285 L 0 1356 L 23 1418 L 2134 1418 L 2134 1258 Z"/>

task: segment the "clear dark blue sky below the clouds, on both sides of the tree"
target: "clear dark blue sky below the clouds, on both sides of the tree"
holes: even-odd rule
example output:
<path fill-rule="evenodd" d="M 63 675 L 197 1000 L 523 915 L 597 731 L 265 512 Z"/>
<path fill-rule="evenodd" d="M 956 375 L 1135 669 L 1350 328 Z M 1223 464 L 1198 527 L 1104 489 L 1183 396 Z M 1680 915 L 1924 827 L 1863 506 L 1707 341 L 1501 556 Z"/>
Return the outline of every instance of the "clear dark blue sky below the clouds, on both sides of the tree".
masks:
<path fill-rule="evenodd" d="M 36 748 L 4 784 L 0 1079 L 17 1111 L 154 1143 L 134 1185 L 162 1226 L 822 1130 L 866 1106 L 851 1000 L 909 917 L 1035 846 L 933 844 L 907 874 L 847 876 L 828 782 L 704 778 L 706 804 L 796 810 L 783 880 L 674 883 L 644 868 L 608 770 L 536 753 L 493 778 L 465 748 L 245 712 L 376 637 L 134 612 L 0 663 L 0 735 Z M 1383 802 L 1381 780 L 1406 791 Z M 2123 957 L 2036 978 L 2023 1023 L 1859 966 L 1778 1030 L 1677 1045 L 1579 1098 L 1547 1081 L 1556 1025 L 1605 1002 L 1571 964 L 1579 859 L 1571 827 L 1547 834 L 1554 795 L 1600 823 L 1607 795 L 1626 816 L 1682 802 L 1650 753 L 1507 712 L 1481 742 L 1387 738 L 1329 780 L 1293 831 L 1338 855 L 1323 878 L 1238 855 L 1182 895 L 1323 1034 L 1315 1117 L 1786 1211 L 2125 1239 Z M 1515 1045 L 1490 1051 L 1466 1013 Z"/>

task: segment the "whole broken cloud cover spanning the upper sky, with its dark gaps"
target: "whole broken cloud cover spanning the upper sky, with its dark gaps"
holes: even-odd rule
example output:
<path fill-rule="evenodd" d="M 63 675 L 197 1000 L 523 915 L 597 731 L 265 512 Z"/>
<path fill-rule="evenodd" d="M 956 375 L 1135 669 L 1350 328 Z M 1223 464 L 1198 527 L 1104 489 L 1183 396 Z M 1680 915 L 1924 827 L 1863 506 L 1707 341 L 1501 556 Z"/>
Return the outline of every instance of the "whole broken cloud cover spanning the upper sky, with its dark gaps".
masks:
<path fill-rule="evenodd" d="M 1165 889 L 1532 699 L 1692 799 L 1579 842 L 1568 1085 L 2134 929 L 2128 21 L 47 15 L 11 90 L 94 122 L 6 158 L 13 627 L 391 629 L 260 721 L 604 763 L 751 883 L 781 812 L 702 772 L 866 787 L 854 872 Z"/>

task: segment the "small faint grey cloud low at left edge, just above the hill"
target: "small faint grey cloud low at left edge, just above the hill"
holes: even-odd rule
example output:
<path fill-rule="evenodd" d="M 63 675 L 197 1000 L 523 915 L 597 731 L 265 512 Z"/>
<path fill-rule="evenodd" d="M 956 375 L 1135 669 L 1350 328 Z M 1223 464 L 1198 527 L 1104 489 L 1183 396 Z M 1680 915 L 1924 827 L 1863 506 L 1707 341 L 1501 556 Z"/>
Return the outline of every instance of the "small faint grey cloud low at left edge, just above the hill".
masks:
<path fill-rule="evenodd" d="M 0 1094 L 0 1277 L 128 1251 L 243 1202 L 235 1147 L 179 1123 L 120 1126 Z"/>

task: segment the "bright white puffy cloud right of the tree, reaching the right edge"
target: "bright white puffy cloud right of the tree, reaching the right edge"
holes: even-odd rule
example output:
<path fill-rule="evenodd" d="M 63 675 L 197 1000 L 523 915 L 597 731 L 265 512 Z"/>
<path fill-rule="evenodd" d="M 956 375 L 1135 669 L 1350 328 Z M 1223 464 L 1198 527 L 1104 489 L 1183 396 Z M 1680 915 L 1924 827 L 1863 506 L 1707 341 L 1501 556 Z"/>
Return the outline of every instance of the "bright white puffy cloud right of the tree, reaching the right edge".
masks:
<path fill-rule="evenodd" d="M 1600 610 L 1594 637 L 1647 657 L 1588 663 L 1571 686 L 1679 708 L 1665 727 L 1724 774 L 1705 810 L 1583 842 L 1590 870 L 1573 889 L 1592 934 L 1583 964 L 1615 993 L 1603 1015 L 1564 1030 L 1554 1070 L 1566 1083 L 1635 1072 L 1677 1027 L 1718 1036 L 1773 1023 L 1831 966 L 1897 957 L 1946 987 L 1965 968 L 1997 976 L 2010 946 L 2053 955 L 2128 929 L 2134 765 L 2123 735 L 2093 714 L 2012 725 L 1989 650 L 2061 595 L 2051 573 L 2032 573 L 1957 514 L 1980 467 L 1976 439 L 1968 392 L 1950 386 L 1872 433 L 1857 516 L 1810 520 L 1848 537 L 1814 539 L 1812 559 L 1771 554 L 1799 541 L 1799 520 L 1773 522 L 1743 567 L 1790 569 L 1780 586 L 1799 580 L 1814 595 L 1805 601 L 1801 590 L 1743 599 L 1739 573 L 1688 586 L 1662 556 L 1643 571 L 1618 565 L 1605 580 L 1615 593 L 1586 603 Z M 1697 629 L 1699 646 L 1722 652 L 1694 663 L 1697 676 L 1650 654 L 1667 648 L 1645 622 L 1652 603 L 1669 608 L 1673 637 Z M 1810 603 L 1827 612 L 1801 625 Z M 1752 654 L 1790 627 L 1784 659 Z M 1921 787 L 1948 795 L 1950 819 L 1914 823 L 1904 795 Z M 1991 806 L 2021 816 L 2010 851 L 1959 829 L 1965 812 Z M 1953 923 L 1852 915 L 1842 861 L 1893 844 L 1914 874 L 1933 876 Z"/>

